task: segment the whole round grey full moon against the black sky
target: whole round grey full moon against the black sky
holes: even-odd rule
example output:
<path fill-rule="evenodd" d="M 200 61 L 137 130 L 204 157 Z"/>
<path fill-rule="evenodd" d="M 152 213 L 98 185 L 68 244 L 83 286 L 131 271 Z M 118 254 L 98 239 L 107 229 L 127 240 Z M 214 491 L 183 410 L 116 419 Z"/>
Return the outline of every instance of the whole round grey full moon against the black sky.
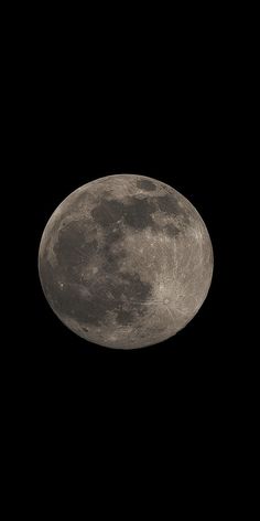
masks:
<path fill-rule="evenodd" d="M 213 275 L 201 215 L 153 178 L 107 176 L 71 193 L 42 235 L 39 273 L 57 317 L 115 349 L 152 345 L 196 315 Z"/>

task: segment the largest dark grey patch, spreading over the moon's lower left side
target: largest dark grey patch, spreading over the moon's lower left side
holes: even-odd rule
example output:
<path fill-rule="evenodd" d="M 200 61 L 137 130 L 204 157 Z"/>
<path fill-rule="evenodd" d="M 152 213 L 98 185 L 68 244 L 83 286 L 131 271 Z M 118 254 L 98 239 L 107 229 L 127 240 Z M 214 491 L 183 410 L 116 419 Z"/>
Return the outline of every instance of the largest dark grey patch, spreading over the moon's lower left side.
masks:
<path fill-rule="evenodd" d="M 40 273 L 46 296 L 61 316 L 75 318 L 86 326 L 98 326 L 109 320 L 109 313 L 115 313 L 118 323 L 130 325 L 144 313 L 142 302 L 149 298 L 152 288 L 138 274 L 119 272 L 126 257 L 123 249 L 113 249 L 123 238 L 122 230 L 115 224 L 119 206 L 106 203 L 105 209 L 110 220 L 106 226 L 102 222 L 104 243 L 88 241 L 87 220 L 73 221 L 59 231 L 54 247 L 57 264 L 53 267 L 44 258 Z M 101 224 L 104 214 L 99 209 L 94 214 L 96 222 Z M 82 280 L 80 266 L 86 267 L 90 260 L 95 263 L 97 256 L 101 260 L 101 273 L 87 281 Z"/>

